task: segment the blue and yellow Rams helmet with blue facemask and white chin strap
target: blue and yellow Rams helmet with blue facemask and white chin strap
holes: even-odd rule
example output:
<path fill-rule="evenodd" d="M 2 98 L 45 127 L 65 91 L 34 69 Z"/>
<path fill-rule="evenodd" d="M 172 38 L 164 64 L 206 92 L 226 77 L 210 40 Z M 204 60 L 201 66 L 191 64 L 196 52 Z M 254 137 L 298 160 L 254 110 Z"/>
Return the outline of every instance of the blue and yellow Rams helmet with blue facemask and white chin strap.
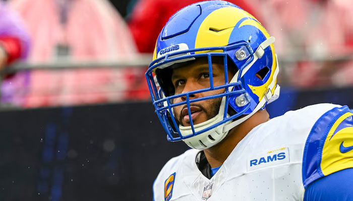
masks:
<path fill-rule="evenodd" d="M 278 74 L 270 37 L 261 23 L 236 5 L 225 1 L 205 1 L 175 13 L 158 36 L 153 61 L 146 79 L 157 116 L 169 141 L 183 140 L 195 149 L 206 149 L 220 142 L 228 131 L 254 113 L 263 110 L 279 95 Z M 163 73 L 175 64 L 204 57 L 210 71 L 210 87 L 174 94 L 168 85 L 170 76 Z M 223 59 L 225 83 L 214 86 L 212 59 Z M 236 68 L 231 80 L 227 69 Z M 224 93 L 200 98 L 190 95 L 207 90 L 223 89 Z M 181 103 L 173 99 L 185 96 Z M 182 126 L 175 121 L 174 108 L 186 105 L 190 119 L 190 104 L 204 99 L 219 98 L 219 113 L 206 122 Z"/>

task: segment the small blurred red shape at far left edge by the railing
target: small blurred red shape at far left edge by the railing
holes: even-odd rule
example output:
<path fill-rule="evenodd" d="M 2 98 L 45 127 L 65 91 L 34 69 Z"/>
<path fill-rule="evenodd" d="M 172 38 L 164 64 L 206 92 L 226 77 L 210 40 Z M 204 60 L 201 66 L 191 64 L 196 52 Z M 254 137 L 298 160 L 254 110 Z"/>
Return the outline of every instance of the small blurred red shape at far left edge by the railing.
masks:
<path fill-rule="evenodd" d="M 4 48 L 8 54 L 8 64 L 21 57 L 22 47 L 18 38 L 11 36 L 0 36 L 0 46 Z"/>

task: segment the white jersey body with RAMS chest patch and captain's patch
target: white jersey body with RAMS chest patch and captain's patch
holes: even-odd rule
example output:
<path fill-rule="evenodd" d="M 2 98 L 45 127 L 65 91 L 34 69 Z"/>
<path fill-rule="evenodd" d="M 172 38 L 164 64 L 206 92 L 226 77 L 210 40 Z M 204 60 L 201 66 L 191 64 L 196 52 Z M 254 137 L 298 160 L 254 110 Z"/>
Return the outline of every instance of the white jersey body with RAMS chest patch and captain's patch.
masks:
<path fill-rule="evenodd" d="M 304 156 L 305 149 L 314 146 L 306 145 L 308 136 L 314 132 L 316 122 L 324 121 L 320 117 L 337 114 L 335 110 L 340 107 L 309 106 L 255 127 L 211 179 L 200 172 L 195 162 L 200 150 L 191 149 L 174 157 L 164 165 L 153 184 L 154 200 L 303 200 L 304 186 L 318 178 L 314 175 L 317 171 L 302 168 L 303 158 L 316 160 Z M 302 171 L 310 174 L 303 177 Z"/>

